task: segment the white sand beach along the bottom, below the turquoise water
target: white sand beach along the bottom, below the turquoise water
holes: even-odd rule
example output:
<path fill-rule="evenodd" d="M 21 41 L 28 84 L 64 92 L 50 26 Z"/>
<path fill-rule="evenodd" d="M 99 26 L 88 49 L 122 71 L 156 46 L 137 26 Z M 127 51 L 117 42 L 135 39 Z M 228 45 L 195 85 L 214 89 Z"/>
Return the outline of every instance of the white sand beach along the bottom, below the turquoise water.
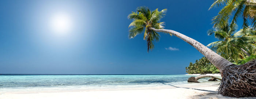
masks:
<path fill-rule="evenodd" d="M 105 90 L 49 91 L 44 89 L 0 91 L 0 99 L 236 99 L 217 95 L 218 84 L 191 83 L 166 87 L 121 88 Z M 239 98 L 239 99 L 256 99 Z"/>

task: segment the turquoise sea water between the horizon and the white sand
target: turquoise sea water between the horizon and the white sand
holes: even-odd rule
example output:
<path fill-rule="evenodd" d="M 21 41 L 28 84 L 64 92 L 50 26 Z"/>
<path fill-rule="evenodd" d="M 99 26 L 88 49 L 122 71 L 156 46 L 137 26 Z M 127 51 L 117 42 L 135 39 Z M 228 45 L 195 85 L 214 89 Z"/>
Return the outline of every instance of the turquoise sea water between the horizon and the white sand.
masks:
<path fill-rule="evenodd" d="M 0 89 L 33 87 L 150 87 L 188 84 L 190 75 L 0 75 Z M 200 79 L 207 82 L 208 78 Z"/>

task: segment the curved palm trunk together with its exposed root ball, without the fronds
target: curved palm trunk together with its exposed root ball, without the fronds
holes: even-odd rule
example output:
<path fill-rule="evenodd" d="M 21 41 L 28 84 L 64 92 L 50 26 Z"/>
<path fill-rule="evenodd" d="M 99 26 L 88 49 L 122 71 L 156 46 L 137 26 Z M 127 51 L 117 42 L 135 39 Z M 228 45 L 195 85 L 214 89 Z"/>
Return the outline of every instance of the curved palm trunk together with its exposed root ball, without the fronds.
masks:
<path fill-rule="evenodd" d="M 202 53 L 212 64 L 214 64 L 222 75 L 218 94 L 231 97 L 253 97 L 256 96 L 256 59 L 243 65 L 234 65 L 207 48 L 200 42 L 187 37 L 174 30 L 154 29 L 155 32 L 165 32 L 181 38 Z M 195 78 L 195 77 L 193 77 Z"/>

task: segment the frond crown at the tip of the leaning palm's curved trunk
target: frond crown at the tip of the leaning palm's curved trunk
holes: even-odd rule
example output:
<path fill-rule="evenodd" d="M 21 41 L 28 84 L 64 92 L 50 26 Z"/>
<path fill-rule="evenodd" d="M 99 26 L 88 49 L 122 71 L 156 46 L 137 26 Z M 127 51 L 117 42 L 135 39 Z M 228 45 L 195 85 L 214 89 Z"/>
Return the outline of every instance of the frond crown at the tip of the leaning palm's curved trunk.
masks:
<path fill-rule="evenodd" d="M 154 30 L 148 28 L 162 29 L 164 22 L 160 22 L 160 19 L 165 15 L 167 9 L 158 11 L 150 11 L 147 7 L 138 7 L 136 12 L 132 12 L 128 15 L 130 20 L 133 20 L 129 25 L 129 38 L 134 38 L 138 34 L 141 34 L 144 30 L 144 40 L 147 41 L 147 51 L 154 48 L 154 41 L 159 41 L 160 35 Z"/>

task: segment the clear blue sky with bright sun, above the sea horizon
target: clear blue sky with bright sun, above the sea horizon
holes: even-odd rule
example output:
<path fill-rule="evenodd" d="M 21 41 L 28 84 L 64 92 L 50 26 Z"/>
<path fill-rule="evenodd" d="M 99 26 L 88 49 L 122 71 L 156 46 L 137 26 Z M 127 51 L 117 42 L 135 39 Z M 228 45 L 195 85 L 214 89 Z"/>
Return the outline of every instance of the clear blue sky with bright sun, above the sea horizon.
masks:
<path fill-rule="evenodd" d="M 181 39 L 161 34 L 147 53 L 143 35 L 128 38 L 127 16 L 139 6 L 167 9 L 165 29 L 204 45 L 214 0 L 2 0 L 0 74 L 186 74 L 203 57 Z M 241 25 L 238 24 L 238 26 Z"/>

